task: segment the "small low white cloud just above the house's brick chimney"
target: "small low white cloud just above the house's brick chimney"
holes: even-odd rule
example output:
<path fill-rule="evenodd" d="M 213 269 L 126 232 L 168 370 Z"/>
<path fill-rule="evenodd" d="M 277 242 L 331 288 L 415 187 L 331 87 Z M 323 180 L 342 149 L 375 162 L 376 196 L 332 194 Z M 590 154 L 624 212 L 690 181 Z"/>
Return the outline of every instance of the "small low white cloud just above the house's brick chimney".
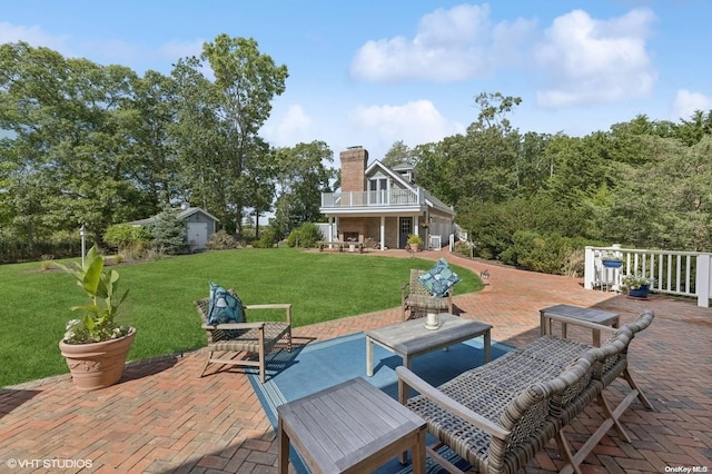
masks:
<path fill-rule="evenodd" d="M 369 139 L 393 144 L 403 140 L 408 146 L 439 141 L 459 134 L 465 127 L 451 122 L 429 100 L 416 100 L 403 106 L 360 107 L 349 115 L 356 129 L 368 132 Z"/>

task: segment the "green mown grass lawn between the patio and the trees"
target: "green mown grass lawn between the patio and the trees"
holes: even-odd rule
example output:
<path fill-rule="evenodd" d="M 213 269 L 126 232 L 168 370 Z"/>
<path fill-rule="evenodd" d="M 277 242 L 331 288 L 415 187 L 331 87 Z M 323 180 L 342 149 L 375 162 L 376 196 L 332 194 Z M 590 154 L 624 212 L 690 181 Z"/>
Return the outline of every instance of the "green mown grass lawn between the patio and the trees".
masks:
<path fill-rule="evenodd" d="M 69 261 L 77 261 L 69 260 Z M 291 303 L 294 326 L 354 316 L 400 305 L 400 285 L 411 268 L 433 261 L 348 254 L 314 254 L 293 248 L 240 249 L 170 257 L 113 267 L 129 288 L 123 324 L 136 326 L 129 359 L 206 345 L 192 302 L 208 296 L 208 282 L 237 290 L 243 303 Z M 482 289 L 472 271 L 454 266 L 463 280 L 455 294 Z M 75 280 L 41 271 L 40 263 L 0 266 L 0 386 L 67 373 L 58 342 L 69 308 L 85 303 Z M 284 316 L 269 312 L 253 317 Z"/>

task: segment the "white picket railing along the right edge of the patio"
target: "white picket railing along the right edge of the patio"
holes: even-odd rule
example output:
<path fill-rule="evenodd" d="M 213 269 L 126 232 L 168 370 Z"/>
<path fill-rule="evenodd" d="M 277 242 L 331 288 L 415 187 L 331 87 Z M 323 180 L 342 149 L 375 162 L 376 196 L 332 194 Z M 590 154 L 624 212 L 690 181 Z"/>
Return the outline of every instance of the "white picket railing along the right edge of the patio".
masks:
<path fill-rule="evenodd" d="M 623 259 L 620 268 L 603 266 L 603 251 Z M 641 250 L 633 248 L 586 247 L 584 288 L 621 289 L 624 275 L 641 275 L 654 283 L 651 292 L 698 298 L 698 306 L 710 307 L 712 254 L 704 251 Z"/>

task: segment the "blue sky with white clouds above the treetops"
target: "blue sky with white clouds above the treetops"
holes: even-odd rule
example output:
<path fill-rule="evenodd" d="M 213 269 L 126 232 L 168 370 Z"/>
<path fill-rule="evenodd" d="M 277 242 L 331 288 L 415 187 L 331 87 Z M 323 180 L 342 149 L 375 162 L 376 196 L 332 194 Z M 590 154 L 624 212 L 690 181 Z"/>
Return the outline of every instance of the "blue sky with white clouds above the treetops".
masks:
<path fill-rule="evenodd" d="M 0 42 L 168 75 L 219 33 L 255 38 L 289 70 L 261 130 L 271 145 L 380 159 L 464 132 L 479 92 L 521 97 L 522 132 L 709 111 L 711 18 L 706 0 L 26 0 L 4 2 Z"/>

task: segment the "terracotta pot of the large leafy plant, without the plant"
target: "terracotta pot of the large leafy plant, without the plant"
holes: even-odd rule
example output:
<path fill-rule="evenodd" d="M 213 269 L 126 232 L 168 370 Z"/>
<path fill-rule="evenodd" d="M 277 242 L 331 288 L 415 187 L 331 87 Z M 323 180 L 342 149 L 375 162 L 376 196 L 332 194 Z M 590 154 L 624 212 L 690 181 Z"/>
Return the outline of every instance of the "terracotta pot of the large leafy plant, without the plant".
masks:
<path fill-rule="evenodd" d="M 80 391 L 96 391 L 116 384 L 126 357 L 136 337 L 136 328 L 126 336 L 93 344 L 59 343 L 59 349 L 67 359 L 67 366 Z"/>

